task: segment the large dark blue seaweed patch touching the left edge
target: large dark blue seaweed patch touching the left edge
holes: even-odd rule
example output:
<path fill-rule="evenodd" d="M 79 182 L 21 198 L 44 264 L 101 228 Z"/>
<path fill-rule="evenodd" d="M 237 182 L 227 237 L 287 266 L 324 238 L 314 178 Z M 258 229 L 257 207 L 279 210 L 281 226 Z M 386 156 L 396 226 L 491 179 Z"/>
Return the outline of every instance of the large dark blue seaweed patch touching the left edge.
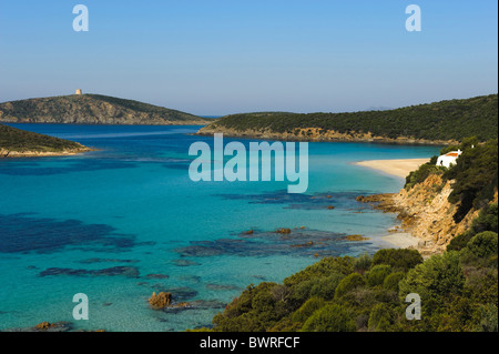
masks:
<path fill-rule="evenodd" d="M 134 246 L 133 235 L 114 233 L 106 224 L 84 224 L 79 220 L 58 221 L 32 214 L 0 214 L 1 253 L 51 253 L 67 246 L 118 252 Z"/>

